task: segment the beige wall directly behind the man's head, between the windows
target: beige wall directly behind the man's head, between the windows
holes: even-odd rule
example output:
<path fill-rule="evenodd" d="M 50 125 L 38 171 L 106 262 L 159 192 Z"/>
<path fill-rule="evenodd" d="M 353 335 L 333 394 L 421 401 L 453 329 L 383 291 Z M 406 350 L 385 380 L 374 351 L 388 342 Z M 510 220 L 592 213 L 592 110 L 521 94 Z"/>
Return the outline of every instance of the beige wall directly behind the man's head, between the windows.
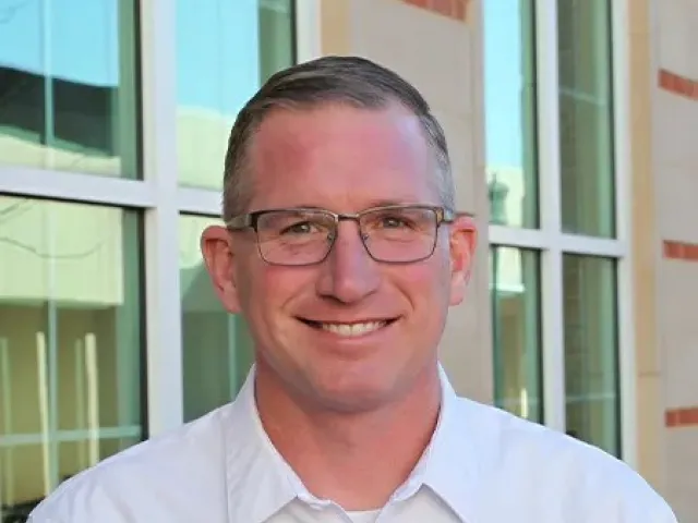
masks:
<path fill-rule="evenodd" d="M 462 11 L 448 16 L 419 3 L 322 2 L 322 53 L 359 54 L 396 70 L 422 92 L 446 130 L 457 205 L 477 215 L 480 243 L 467 300 L 452 309 L 442 360 L 458 392 L 492 401 L 480 5 L 469 3 L 464 21 Z"/>

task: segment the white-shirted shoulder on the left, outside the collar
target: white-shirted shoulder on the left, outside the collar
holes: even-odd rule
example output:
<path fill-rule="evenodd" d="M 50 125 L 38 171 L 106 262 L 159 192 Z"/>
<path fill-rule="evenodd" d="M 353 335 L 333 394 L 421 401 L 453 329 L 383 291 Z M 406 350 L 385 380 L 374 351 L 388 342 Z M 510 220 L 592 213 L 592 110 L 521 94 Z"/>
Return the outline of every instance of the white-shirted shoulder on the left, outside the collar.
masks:
<path fill-rule="evenodd" d="M 218 495 L 226 416 L 227 406 L 105 459 L 63 482 L 29 522 L 181 521 L 191 510 L 188 500 L 213 501 Z"/>

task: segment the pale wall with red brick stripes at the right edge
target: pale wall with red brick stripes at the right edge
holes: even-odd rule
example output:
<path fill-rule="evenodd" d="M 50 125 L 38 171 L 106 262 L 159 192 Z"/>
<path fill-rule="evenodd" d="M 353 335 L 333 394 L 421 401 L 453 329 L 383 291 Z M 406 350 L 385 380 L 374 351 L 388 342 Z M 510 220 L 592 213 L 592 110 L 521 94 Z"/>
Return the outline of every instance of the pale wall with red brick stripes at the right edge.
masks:
<path fill-rule="evenodd" d="M 698 521 L 698 0 L 653 0 L 652 166 L 665 494 Z"/>

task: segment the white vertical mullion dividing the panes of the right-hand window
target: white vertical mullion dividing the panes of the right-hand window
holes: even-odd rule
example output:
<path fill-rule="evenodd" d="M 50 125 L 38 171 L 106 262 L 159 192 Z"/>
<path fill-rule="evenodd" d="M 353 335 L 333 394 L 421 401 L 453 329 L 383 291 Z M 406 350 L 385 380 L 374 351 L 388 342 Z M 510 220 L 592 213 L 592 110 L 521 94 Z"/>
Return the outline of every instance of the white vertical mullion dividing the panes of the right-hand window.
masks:
<path fill-rule="evenodd" d="M 543 404 L 545 425 L 565 429 L 565 360 L 559 194 L 559 87 L 557 2 L 537 0 L 538 157 L 541 230 L 549 247 L 541 257 Z"/>

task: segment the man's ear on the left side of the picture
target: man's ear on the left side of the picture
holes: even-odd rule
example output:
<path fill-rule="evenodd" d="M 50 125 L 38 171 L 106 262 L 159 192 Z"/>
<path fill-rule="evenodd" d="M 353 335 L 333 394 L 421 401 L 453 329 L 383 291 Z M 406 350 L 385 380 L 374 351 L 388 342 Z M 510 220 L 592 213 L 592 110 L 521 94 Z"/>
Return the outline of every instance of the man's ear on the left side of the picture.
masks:
<path fill-rule="evenodd" d="M 229 313 L 240 313 L 231 233 L 220 226 L 206 228 L 201 235 L 201 252 L 218 300 Z"/>

